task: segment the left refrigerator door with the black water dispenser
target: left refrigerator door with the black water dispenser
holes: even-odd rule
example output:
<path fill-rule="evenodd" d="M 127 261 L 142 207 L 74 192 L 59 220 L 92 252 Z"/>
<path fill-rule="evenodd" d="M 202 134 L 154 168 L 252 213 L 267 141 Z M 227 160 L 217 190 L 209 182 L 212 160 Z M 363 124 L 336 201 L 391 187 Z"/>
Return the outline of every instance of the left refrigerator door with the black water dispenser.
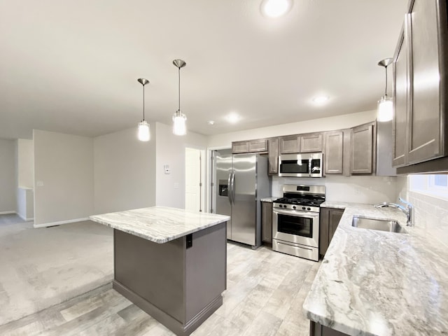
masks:
<path fill-rule="evenodd" d="M 230 151 L 215 151 L 214 154 L 216 160 L 216 214 L 232 216 L 229 200 L 230 189 L 227 184 L 232 170 L 232 154 Z M 227 239 L 232 239 L 232 218 L 227 222 Z"/>

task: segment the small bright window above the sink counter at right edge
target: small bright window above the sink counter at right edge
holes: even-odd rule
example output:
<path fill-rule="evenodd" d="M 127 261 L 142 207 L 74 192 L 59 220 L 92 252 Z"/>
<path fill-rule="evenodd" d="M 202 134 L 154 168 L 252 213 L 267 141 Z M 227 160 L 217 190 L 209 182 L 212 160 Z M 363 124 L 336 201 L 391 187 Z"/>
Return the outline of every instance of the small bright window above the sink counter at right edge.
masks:
<path fill-rule="evenodd" d="M 448 200 L 448 175 L 409 175 L 410 190 Z"/>

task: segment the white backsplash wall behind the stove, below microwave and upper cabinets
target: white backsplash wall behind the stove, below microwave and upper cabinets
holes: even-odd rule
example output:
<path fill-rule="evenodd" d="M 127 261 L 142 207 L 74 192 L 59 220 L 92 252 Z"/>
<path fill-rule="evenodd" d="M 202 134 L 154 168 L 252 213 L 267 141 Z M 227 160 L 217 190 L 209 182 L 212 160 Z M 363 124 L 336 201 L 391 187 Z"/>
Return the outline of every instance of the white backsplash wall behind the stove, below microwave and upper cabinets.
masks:
<path fill-rule="evenodd" d="M 272 176 L 272 196 L 281 197 L 283 184 L 325 186 L 325 200 L 333 202 L 380 203 L 396 202 L 396 177 L 326 176 L 321 179 Z"/>

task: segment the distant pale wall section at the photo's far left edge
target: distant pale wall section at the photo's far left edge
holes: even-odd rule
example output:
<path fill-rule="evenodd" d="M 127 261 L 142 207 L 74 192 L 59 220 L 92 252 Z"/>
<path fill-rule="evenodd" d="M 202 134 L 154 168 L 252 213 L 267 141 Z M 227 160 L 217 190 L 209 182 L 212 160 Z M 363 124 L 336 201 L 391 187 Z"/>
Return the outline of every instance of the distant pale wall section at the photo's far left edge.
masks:
<path fill-rule="evenodd" d="M 0 139 L 0 214 L 14 213 L 16 193 L 16 142 Z"/>

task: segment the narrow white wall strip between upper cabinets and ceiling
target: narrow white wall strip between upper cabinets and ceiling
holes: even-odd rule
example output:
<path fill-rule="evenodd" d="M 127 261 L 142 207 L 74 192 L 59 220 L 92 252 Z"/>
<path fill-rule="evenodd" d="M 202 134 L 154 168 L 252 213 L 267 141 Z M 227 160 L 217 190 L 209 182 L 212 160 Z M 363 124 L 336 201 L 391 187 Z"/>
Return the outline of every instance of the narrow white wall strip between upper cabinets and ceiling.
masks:
<path fill-rule="evenodd" d="M 272 113 L 275 113 L 274 111 Z M 274 125 L 269 127 L 255 128 L 253 130 L 217 134 L 208 137 L 208 147 L 211 149 L 230 148 L 232 141 L 243 141 L 269 137 L 280 137 L 282 135 L 300 134 L 308 132 L 324 132 L 330 130 L 342 130 L 375 120 L 377 111 L 365 111 L 345 114 L 321 119 L 300 121 Z"/>

